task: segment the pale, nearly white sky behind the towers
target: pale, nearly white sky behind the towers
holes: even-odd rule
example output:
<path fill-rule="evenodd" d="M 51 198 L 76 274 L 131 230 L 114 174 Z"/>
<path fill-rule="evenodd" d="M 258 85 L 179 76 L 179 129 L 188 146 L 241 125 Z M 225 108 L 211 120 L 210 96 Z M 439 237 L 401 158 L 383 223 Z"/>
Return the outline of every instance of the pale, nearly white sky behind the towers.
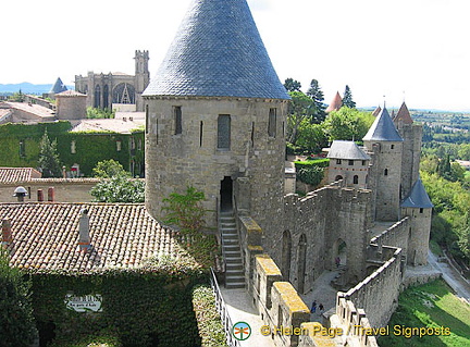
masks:
<path fill-rule="evenodd" d="M 0 83 L 134 73 L 149 50 L 154 73 L 191 0 L 11 1 L 2 15 Z M 280 79 L 329 103 L 349 85 L 358 106 L 470 110 L 465 0 L 248 0 Z"/>

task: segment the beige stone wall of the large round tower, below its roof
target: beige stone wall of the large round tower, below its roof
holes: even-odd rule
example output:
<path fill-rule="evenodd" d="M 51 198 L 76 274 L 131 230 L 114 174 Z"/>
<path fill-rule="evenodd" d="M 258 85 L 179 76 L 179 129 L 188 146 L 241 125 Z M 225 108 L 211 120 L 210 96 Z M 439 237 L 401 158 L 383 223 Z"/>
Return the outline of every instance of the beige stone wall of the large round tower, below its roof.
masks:
<path fill-rule="evenodd" d="M 174 107 L 182 110 L 175 134 Z M 206 195 L 208 226 L 217 225 L 221 182 L 248 178 L 247 209 L 267 231 L 279 228 L 275 216 L 284 196 L 285 100 L 242 98 L 146 97 L 146 203 L 162 216 L 162 199 L 193 185 Z M 276 136 L 268 134 L 270 109 L 277 110 Z M 230 149 L 218 149 L 218 117 L 231 116 Z"/>

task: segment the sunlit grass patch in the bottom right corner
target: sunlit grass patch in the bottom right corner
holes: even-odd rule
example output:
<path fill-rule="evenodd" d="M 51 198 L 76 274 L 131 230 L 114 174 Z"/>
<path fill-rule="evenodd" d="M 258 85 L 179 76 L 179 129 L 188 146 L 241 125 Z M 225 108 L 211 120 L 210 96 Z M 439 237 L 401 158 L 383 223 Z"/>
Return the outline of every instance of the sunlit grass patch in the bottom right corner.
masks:
<path fill-rule="evenodd" d="M 398 308 L 388 324 L 391 334 L 381 337 L 379 345 L 470 346 L 469 317 L 470 306 L 455 296 L 443 280 L 411 287 L 399 296 Z M 418 331 L 411 331 L 413 327 L 432 327 L 434 333 L 420 337 Z"/>

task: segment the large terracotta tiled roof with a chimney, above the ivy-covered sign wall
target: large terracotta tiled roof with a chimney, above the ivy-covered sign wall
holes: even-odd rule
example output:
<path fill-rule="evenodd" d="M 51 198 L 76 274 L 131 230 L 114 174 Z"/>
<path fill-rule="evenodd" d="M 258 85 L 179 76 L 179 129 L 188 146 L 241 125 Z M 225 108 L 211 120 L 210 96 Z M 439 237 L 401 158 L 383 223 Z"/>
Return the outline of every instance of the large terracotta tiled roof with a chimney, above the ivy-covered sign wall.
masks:
<path fill-rule="evenodd" d="M 91 245 L 87 252 L 78 250 L 84 208 Z M 141 203 L 0 203 L 0 220 L 4 219 L 12 225 L 11 265 L 33 272 L 131 269 L 150 257 L 177 257 L 183 251 L 178 233 L 161 227 Z"/>

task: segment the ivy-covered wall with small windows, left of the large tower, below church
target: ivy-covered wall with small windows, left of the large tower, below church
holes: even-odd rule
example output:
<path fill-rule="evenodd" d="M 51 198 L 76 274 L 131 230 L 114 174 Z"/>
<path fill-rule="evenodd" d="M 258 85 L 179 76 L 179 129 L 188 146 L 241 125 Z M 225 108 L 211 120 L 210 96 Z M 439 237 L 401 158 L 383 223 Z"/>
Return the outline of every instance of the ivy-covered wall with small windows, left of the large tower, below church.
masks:
<path fill-rule="evenodd" d="M 134 168 L 134 176 L 144 176 L 144 131 L 70 133 L 72 125 L 66 121 L 0 125 L 0 166 L 37 168 L 39 142 L 46 128 L 49 138 L 57 139 L 59 158 L 67 171 L 76 163 L 85 176 L 91 176 L 99 161 L 114 159 L 127 171 Z"/>

